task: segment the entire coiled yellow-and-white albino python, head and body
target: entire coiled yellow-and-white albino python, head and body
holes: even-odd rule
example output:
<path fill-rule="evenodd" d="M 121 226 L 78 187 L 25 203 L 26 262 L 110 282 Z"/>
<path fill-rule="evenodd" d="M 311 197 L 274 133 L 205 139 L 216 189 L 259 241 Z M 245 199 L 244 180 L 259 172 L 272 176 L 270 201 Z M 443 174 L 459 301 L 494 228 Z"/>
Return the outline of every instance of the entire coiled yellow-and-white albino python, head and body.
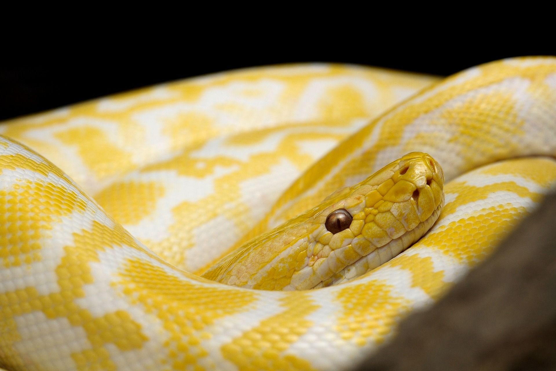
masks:
<path fill-rule="evenodd" d="M 0 367 L 346 369 L 554 187 L 556 58 L 252 68 L 0 134 Z"/>

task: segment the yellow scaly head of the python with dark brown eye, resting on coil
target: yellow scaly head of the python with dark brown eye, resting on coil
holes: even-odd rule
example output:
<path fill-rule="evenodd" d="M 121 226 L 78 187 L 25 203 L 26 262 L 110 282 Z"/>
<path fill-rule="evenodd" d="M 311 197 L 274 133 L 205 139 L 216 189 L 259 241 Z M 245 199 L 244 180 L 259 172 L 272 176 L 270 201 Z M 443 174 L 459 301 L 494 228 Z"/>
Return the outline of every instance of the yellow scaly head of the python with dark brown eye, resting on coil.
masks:
<path fill-rule="evenodd" d="M 419 240 L 444 205 L 444 173 L 411 152 L 319 206 L 250 241 L 203 276 L 263 290 L 306 290 L 355 279 Z"/>

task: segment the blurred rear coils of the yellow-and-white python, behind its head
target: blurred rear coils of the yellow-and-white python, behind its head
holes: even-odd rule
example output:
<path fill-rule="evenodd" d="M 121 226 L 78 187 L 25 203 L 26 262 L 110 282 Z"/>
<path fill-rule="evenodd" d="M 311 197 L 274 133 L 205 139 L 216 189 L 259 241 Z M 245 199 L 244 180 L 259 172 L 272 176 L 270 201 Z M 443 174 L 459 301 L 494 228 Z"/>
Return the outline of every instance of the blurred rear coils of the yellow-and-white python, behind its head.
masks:
<path fill-rule="evenodd" d="M 161 258 L 200 273 L 337 142 L 436 80 L 251 68 L 23 117 L 0 134 L 60 167 Z"/>

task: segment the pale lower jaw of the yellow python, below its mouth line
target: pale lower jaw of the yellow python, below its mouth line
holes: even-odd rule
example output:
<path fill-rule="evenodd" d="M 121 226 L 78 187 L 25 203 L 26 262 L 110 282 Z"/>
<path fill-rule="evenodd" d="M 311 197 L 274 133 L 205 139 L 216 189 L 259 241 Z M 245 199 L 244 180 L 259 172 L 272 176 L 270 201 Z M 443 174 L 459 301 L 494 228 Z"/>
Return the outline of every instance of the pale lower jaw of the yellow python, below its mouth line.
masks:
<path fill-rule="evenodd" d="M 355 261 L 355 263 L 346 266 L 329 279 L 321 281 L 319 284 L 314 286 L 313 289 L 342 284 L 362 278 L 364 275 L 370 273 L 376 268 L 379 268 L 379 266 L 384 263 L 394 259 L 396 256 L 413 246 L 418 240 L 423 238 L 436 220 L 438 220 L 443 205 L 444 194 L 442 194 L 442 200 L 440 201 L 440 204 L 436 206 L 433 214 L 431 214 L 425 221 L 420 222 L 414 229 L 406 231 L 406 233 L 400 237 L 391 240 L 388 244 L 380 246 L 380 248 L 376 248 L 371 251 L 371 253 L 361 256 L 361 258 Z"/>

